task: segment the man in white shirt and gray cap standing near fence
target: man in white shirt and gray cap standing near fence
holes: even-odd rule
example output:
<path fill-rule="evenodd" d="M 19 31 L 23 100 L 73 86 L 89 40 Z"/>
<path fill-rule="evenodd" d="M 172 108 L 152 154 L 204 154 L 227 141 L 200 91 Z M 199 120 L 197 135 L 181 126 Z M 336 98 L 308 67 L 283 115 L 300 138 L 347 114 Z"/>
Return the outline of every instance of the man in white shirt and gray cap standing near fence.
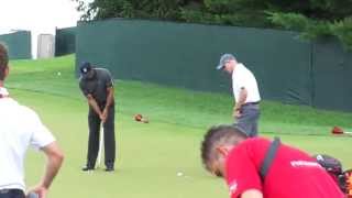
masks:
<path fill-rule="evenodd" d="M 238 63 L 232 54 L 223 54 L 217 69 L 226 70 L 232 75 L 235 100 L 233 117 L 238 121 L 237 125 L 249 136 L 256 136 L 261 96 L 254 75 L 242 63 Z"/>

